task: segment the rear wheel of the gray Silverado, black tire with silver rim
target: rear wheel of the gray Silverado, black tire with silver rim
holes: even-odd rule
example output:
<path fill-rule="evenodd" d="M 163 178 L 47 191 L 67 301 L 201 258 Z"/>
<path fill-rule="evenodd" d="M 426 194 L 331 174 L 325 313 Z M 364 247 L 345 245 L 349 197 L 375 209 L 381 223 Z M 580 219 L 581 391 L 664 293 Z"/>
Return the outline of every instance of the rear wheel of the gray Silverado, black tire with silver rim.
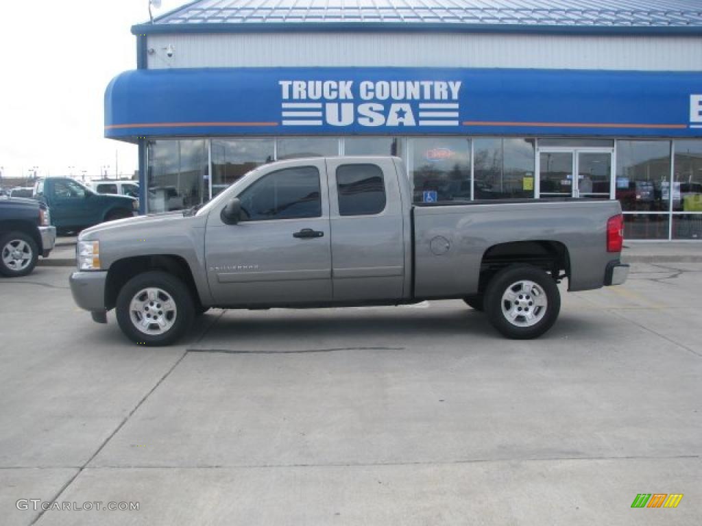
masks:
<path fill-rule="evenodd" d="M 519 285 L 522 281 L 531 281 L 537 287 L 527 290 L 528 285 Z M 514 302 L 503 302 L 503 295 L 508 288 L 512 288 L 515 293 Z M 544 297 L 546 303 L 541 306 L 539 303 L 543 303 Z M 508 319 L 504 309 L 517 314 L 513 321 Z M 485 311 L 491 325 L 511 339 L 531 339 L 543 335 L 555 323 L 560 309 L 561 295 L 555 281 L 549 274 L 532 265 L 512 265 L 499 271 L 485 291 Z M 531 319 L 527 316 L 531 316 Z M 534 317 L 538 320 L 534 321 Z M 529 323 L 533 324 L 527 325 Z"/>

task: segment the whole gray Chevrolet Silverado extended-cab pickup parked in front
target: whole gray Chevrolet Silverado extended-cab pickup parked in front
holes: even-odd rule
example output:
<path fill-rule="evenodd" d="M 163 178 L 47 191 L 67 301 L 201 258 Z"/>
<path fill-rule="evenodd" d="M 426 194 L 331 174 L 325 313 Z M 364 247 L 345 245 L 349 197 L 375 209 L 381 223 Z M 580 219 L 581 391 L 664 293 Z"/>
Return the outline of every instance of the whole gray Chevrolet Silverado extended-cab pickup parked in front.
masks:
<path fill-rule="evenodd" d="M 115 309 L 138 344 L 166 345 L 210 307 L 397 305 L 460 298 L 506 337 L 556 321 L 557 283 L 623 283 L 617 201 L 412 203 L 393 157 L 256 168 L 203 208 L 84 230 L 77 304 Z"/>

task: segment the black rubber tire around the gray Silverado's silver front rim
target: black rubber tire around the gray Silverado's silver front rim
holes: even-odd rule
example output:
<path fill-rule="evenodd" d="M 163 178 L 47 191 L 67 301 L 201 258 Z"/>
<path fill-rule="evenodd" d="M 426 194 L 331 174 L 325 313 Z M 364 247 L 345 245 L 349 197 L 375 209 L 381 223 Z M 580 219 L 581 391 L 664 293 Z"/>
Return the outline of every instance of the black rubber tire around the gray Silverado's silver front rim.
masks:
<path fill-rule="evenodd" d="M 131 302 L 133 299 L 137 299 L 136 296 L 140 291 L 148 288 L 159 289 L 164 292 L 164 296 L 157 296 L 151 303 L 156 303 L 158 306 L 154 309 L 154 306 L 146 305 L 145 309 L 149 307 L 154 309 L 151 311 L 153 314 L 149 314 L 148 311 L 142 313 L 138 311 L 138 314 L 133 316 L 131 311 Z M 149 316 L 155 316 L 152 319 L 156 319 L 159 313 L 161 313 L 161 318 L 166 318 L 164 311 L 166 311 L 165 304 L 163 311 L 159 311 L 161 308 L 160 301 L 164 301 L 163 298 L 170 296 L 175 304 L 175 313 L 171 318 L 169 318 L 165 323 L 171 325 L 165 332 L 156 334 L 152 331 L 156 331 L 158 323 L 154 321 L 148 325 L 145 329 L 149 332 L 143 332 L 136 325 L 135 316 L 142 316 L 141 319 L 149 318 Z M 148 300 L 148 298 L 146 298 Z M 127 281 L 127 283 L 119 291 L 117 295 L 117 304 L 115 305 L 115 313 L 117 314 L 117 323 L 119 323 L 119 328 L 122 332 L 131 339 L 133 342 L 146 345 L 146 346 L 164 346 L 170 345 L 176 342 L 180 337 L 183 337 L 185 333 L 190 329 L 192 325 L 192 320 L 194 317 L 194 302 L 190 291 L 187 290 L 185 284 L 180 281 L 180 279 L 173 276 L 173 274 L 168 274 L 162 271 L 149 271 L 143 274 L 138 274 Z M 134 321 L 133 321 L 134 320 Z M 148 323 L 148 322 L 146 322 Z"/>

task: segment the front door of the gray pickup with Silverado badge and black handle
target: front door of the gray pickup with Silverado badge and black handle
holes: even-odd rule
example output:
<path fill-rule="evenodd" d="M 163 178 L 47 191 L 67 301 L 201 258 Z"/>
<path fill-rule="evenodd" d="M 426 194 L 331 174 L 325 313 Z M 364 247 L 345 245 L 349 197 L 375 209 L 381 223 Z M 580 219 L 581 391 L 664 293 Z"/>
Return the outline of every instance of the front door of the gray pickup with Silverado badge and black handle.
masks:
<path fill-rule="evenodd" d="M 226 202 L 207 222 L 210 290 L 223 305 L 329 302 L 331 235 L 324 159 L 262 170 L 239 193 L 242 220 L 225 224 Z"/>

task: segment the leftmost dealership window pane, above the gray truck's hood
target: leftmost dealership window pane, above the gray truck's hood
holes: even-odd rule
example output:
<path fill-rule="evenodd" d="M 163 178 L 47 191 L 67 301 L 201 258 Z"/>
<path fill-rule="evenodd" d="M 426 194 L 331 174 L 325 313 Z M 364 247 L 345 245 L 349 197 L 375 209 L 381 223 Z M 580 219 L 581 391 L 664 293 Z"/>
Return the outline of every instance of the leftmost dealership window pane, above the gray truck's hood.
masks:
<path fill-rule="evenodd" d="M 148 144 L 148 211 L 182 210 L 208 197 L 205 140 L 157 140 Z"/>

